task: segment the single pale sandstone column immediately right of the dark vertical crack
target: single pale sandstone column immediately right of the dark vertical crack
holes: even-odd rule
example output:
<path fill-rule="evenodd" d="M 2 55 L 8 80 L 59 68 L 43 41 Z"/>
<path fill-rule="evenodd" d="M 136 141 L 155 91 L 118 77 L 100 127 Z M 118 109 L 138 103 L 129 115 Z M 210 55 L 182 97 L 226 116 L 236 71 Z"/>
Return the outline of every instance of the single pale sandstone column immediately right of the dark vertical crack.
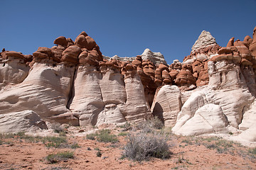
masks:
<path fill-rule="evenodd" d="M 79 118 L 80 125 L 96 125 L 98 114 L 104 108 L 100 79 L 102 74 L 95 67 L 89 64 L 78 67 L 69 108 Z"/>

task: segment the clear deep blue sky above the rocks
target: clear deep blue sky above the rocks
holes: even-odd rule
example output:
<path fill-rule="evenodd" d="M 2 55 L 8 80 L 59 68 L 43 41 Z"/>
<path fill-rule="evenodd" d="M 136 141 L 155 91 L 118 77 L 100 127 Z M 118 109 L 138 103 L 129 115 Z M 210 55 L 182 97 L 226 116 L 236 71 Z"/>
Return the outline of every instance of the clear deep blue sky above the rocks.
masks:
<path fill-rule="evenodd" d="M 233 36 L 252 37 L 256 26 L 255 0 L 1 0 L 0 6 L 0 50 L 26 55 L 85 30 L 103 55 L 133 57 L 149 48 L 171 64 L 190 54 L 202 30 L 225 46 Z"/>

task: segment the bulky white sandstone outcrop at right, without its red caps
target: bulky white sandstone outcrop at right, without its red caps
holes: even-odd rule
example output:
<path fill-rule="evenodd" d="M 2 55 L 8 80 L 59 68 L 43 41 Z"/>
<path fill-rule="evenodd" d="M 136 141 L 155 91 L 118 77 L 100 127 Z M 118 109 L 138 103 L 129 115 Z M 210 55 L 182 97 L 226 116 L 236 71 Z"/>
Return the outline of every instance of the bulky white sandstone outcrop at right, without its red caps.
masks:
<path fill-rule="evenodd" d="M 255 122 L 255 97 L 240 67 L 229 60 L 208 62 L 210 82 L 183 104 L 172 130 L 181 135 L 220 134 L 250 128 Z M 247 75 L 247 77 L 251 77 Z M 248 78 L 247 78 L 248 79 Z M 252 81 L 249 84 L 254 86 Z M 218 123 L 219 122 L 219 123 Z M 250 131 L 250 130 L 249 130 Z M 251 131 L 250 131 L 251 132 Z"/>

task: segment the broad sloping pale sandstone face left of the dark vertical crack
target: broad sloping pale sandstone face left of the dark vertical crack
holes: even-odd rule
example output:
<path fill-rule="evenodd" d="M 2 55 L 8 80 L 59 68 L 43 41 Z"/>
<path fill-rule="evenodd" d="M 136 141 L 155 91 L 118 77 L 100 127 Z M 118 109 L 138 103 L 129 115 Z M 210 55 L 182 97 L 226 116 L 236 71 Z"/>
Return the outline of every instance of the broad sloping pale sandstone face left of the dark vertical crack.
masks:
<path fill-rule="evenodd" d="M 28 77 L 0 94 L 1 114 L 31 110 L 41 118 L 66 113 L 75 68 L 35 63 Z"/>

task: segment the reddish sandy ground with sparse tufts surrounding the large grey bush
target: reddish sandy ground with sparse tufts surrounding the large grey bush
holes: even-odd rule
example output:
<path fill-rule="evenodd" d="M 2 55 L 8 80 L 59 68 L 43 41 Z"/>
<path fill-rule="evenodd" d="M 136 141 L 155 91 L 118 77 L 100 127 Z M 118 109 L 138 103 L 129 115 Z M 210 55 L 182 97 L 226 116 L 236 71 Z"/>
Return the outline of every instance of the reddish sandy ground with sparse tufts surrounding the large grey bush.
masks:
<path fill-rule="evenodd" d="M 119 130 L 112 132 L 118 134 Z M 174 146 L 169 148 L 173 152 L 169 159 L 133 162 L 120 159 L 126 143 L 124 136 L 118 136 L 119 142 L 113 145 L 87 140 L 83 132 L 78 135 L 78 130 L 68 130 L 67 139 L 69 143 L 77 142 L 80 147 L 48 148 L 42 142 L 1 139 L 4 144 L 0 145 L 0 169 L 256 169 L 256 155 L 250 155 L 247 147 L 235 143 L 227 152 L 218 153 L 217 149 L 206 147 L 215 141 L 170 135 L 169 143 Z M 97 157 L 95 148 L 101 150 L 102 157 Z M 67 150 L 74 152 L 73 159 L 55 164 L 46 160 L 48 154 Z"/>

